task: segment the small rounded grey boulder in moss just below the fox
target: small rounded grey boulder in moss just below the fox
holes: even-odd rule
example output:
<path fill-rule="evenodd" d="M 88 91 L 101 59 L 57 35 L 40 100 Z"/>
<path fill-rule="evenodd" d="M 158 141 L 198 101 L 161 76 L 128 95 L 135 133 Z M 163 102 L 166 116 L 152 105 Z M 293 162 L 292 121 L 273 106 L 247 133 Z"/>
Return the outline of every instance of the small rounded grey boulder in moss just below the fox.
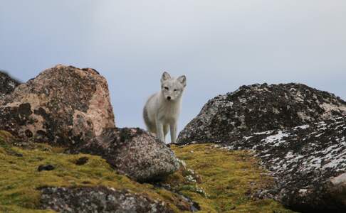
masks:
<path fill-rule="evenodd" d="M 147 182 L 174 173 L 179 162 L 162 142 L 141 129 L 105 129 L 73 152 L 101 155 L 115 170 Z"/>

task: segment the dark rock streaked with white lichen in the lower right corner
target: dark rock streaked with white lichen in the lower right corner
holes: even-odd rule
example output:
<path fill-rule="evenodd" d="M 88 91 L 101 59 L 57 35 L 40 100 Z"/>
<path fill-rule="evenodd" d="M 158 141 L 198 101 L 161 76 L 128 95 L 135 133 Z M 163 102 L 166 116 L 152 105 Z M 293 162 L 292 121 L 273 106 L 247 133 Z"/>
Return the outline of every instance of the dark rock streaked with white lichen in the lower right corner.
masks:
<path fill-rule="evenodd" d="M 346 212 L 346 116 L 223 144 L 251 149 L 276 185 L 258 192 L 298 212 Z"/>

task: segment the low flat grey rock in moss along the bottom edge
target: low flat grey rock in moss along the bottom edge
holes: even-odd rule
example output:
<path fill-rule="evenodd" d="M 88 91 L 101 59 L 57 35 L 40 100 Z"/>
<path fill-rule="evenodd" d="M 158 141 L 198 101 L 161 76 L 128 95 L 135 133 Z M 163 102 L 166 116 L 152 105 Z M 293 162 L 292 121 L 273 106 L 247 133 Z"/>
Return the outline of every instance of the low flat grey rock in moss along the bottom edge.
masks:
<path fill-rule="evenodd" d="M 45 187 L 41 207 L 56 212 L 173 212 L 167 204 L 145 195 L 108 187 Z"/>

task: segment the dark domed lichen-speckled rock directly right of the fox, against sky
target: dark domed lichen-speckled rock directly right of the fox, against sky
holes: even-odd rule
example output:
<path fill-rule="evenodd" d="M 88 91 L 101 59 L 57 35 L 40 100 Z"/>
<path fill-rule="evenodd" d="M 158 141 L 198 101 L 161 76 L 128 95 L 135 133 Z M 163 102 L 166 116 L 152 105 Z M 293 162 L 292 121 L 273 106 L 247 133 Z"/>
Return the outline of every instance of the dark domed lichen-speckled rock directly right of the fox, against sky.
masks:
<path fill-rule="evenodd" d="M 253 84 L 209 100 L 177 143 L 224 143 L 246 134 L 288 129 L 346 115 L 346 102 L 304 84 Z"/>

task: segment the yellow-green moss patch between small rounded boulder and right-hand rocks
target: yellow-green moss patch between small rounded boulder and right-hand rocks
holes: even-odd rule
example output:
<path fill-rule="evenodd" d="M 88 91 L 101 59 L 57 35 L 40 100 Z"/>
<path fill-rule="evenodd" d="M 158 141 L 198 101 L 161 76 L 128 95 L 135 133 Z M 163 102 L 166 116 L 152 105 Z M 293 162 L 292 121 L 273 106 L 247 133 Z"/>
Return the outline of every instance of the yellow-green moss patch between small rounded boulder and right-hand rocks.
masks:
<path fill-rule="evenodd" d="M 191 177 L 191 170 L 180 170 L 180 176 L 171 177 L 177 180 L 174 189 L 198 202 L 201 212 L 291 212 L 273 200 L 255 200 L 249 196 L 273 184 L 249 151 L 226 151 L 211 144 L 172 146 L 172 149 L 194 170 L 196 180 L 194 185 L 187 182 L 184 177 Z M 205 194 L 196 192 L 196 188 Z"/>

